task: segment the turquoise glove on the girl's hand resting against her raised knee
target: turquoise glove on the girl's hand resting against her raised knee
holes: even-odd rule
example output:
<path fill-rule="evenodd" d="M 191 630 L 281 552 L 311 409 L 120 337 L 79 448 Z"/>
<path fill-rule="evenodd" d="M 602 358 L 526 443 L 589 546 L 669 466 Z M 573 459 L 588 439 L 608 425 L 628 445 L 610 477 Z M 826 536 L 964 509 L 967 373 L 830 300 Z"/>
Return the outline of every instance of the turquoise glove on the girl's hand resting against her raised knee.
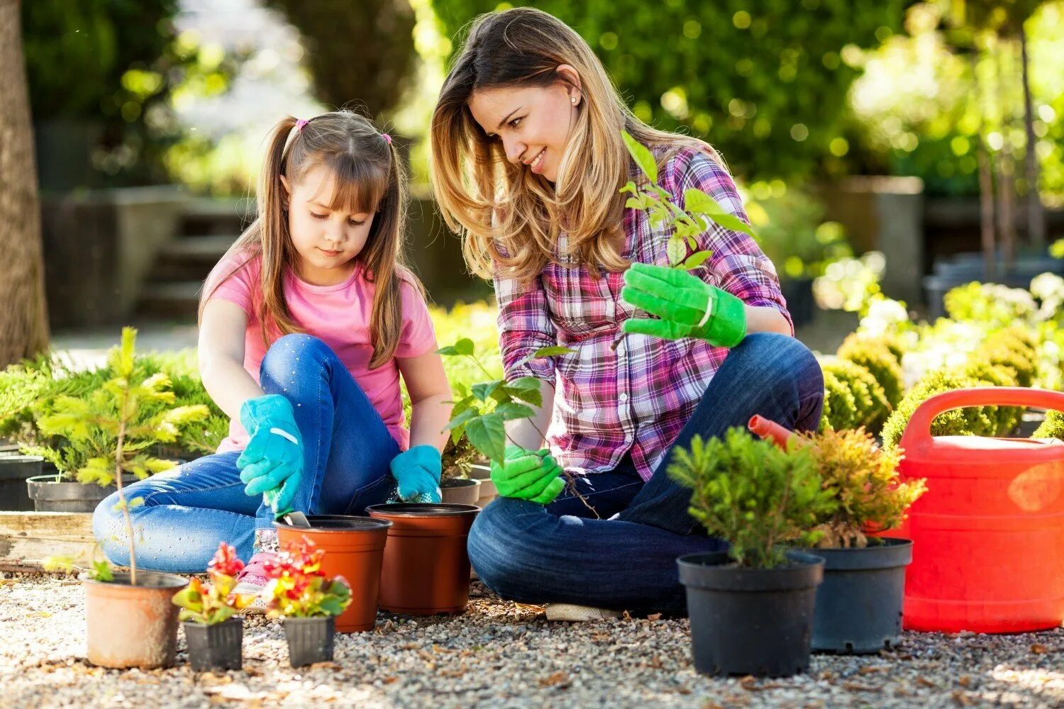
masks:
<path fill-rule="evenodd" d="M 251 435 L 236 459 L 240 482 L 247 486 L 244 492 L 267 493 L 266 502 L 276 513 L 290 511 L 303 472 L 303 440 L 292 404 L 281 394 L 249 399 L 240 406 L 240 423 Z"/>

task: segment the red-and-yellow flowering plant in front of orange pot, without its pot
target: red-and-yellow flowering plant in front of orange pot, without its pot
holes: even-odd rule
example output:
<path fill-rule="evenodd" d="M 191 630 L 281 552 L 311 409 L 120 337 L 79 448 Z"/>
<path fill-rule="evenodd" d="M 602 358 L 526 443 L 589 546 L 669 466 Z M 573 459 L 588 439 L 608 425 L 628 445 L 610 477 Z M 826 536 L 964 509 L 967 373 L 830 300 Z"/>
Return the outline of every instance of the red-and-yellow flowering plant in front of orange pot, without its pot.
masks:
<path fill-rule="evenodd" d="M 303 537 L 301 544 L 285 548 L 266 562 L 269 584 L 263 589 L 263 598 L 269 618 L 328 618 L 344 612 L 351 603 L 351 587 L 343 576 L 325 575 L 325 554 Z"/>

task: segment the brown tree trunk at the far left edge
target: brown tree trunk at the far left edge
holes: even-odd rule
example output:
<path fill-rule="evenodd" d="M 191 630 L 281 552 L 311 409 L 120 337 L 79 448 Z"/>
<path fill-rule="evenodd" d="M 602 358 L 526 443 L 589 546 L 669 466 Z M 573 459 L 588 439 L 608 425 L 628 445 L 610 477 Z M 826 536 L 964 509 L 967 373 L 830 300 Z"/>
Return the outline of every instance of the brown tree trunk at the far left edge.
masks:
<path fill-rule="evenodd" d="M 0 367 L 48 347 L 40 205 L 19 0 L 0 0 Z"/>

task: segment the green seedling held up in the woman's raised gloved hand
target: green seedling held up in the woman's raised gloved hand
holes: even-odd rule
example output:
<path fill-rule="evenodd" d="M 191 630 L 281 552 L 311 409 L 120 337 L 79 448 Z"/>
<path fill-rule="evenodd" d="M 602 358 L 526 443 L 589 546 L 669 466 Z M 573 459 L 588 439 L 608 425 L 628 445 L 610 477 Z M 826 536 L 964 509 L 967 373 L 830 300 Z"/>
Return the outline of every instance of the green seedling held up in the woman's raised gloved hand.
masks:
<path fill-rule="evenodd" d="M 712 251 L 698 248 L 697 239 L 711 223 L 757 238 L 749 224 L 727 212 L 719 202 L 697 187 L 688 187 L 683 191 L 686 209 L 681 208 L 672 201 L 668 190 L 658 184 L 658 162 L 653 153 L 627 131 L 621 131 L 621 138 L 646 178 L 646 184 L 636 184 L 630 180 L 620 188 L 621 193 L 631 195 L 625 201 L 625 206 L 646 209 L 650 224 L 664 227 L 669 233 L 665 244 L 669 268 L 689 271 L 713 256 Z M 624 336 L 625 333 L 618 333 L 611 349 L 616 349 Z"/>

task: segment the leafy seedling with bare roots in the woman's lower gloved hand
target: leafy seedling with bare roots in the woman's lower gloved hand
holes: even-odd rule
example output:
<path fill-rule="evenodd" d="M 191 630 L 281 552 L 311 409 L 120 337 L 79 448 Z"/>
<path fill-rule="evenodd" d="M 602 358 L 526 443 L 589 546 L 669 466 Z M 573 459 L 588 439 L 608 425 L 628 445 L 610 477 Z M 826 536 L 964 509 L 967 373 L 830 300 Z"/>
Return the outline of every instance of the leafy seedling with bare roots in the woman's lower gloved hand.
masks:
<path fill-rule="evenodd" d="M 561 345 L 539 348 L 519 364 L 572 352 L 576 350 Z M 454 344 L 438 350 L 437 353 L 445 357 L 468 357 L 484 372 L 485 376 L 492 376 L 492 373 L 477 356 L 472 340 L 468 338 L 462 338 Z M 444 431 L 451 432 L 452 444 L 456 445 L 465 436 L 469 443 L 488 460 L 502 465 L 505 459 L 506 441 L 517 444 L 506 433 L 506 421 L 528 419 L 539 435 L 541 440 L 547 439 L 544 432 L 539 431 L 539 427 L 532 420 L 535 416 L 535 408 L 543 406 L 543 392 L 539 390 L 539 379 L 534 376 L 521 376 L 512 382 L 491 378 L 468 388 L 459 384 L 454 389 L 458 401 L 450 402 L 454 406 L 451 409 L 450 421 Z M 595 508 L 578 492 L 572 475 L 565 470 L 562 471 L 562 474 L 565 476 L 569 491 L 598 517 Z"/>

